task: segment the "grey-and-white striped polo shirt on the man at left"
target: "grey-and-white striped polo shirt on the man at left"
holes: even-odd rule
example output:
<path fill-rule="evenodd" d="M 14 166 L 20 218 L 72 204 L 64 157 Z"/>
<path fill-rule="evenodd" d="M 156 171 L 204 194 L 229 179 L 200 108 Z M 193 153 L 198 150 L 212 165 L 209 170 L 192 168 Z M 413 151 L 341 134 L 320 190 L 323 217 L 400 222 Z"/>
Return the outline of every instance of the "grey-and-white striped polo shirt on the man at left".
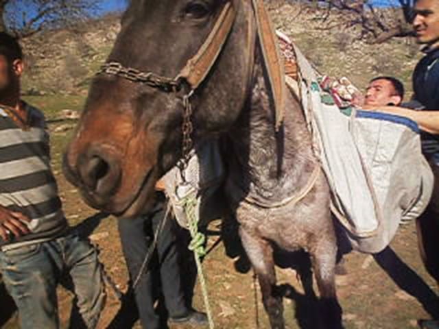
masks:
<path fill-rule="evenodd" d="M 67 229 L 58 187 L 50 166 L 49 134 L 42 112 L 25 104 L 29 130 L 22 130 L 0 107 L 0 205 L 31 219 L 29 234 L 1 249 L 47 241 Z"/>

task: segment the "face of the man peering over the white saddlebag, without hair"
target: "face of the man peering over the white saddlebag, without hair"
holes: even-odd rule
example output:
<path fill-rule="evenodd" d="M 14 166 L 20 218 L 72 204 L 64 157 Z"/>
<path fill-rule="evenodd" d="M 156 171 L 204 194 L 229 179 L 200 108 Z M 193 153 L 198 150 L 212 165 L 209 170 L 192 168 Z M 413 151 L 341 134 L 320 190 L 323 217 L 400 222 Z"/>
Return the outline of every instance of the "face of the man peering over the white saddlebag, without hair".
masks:
<path fill-rule="evenodd" d="M 366 88 L 364 105 L 387 106 L 390 104 L 399 105 L 402 99 L 396 95 L 396 90 L 389 80 L 379 79 L 370 82 Z"/>

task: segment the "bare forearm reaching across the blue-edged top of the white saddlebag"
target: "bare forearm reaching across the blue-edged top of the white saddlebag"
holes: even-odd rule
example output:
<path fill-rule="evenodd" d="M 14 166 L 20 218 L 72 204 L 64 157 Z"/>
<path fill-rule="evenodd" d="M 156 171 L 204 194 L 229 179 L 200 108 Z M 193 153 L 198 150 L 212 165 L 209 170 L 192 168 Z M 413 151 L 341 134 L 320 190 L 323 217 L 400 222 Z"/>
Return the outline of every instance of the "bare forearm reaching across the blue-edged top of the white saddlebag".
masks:
<path fill-rule="evenodd" d="M 439 110 L 416 111 L 399 106 L 373 106 L 365 107 L 365 110 L 401 115 L 401 117 L 407 117 L 418 123 L 421 130 L 430 134 L 439 134 Z"/>

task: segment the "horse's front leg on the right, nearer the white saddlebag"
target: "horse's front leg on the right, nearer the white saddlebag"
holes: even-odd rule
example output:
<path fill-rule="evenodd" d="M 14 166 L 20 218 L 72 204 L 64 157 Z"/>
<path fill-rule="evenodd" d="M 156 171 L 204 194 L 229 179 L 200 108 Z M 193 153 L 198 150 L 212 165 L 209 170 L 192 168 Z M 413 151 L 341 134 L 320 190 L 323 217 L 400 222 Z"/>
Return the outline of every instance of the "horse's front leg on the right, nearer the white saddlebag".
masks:
<path fill-rule="evenodd" d="M 322 239 L 313 248 L 311 262 L 320 291 L 320 311 L 323 328 L 343 328 L 342 308 L 335 292 L 335 260 L 337 246 L 331 239 Z"/>

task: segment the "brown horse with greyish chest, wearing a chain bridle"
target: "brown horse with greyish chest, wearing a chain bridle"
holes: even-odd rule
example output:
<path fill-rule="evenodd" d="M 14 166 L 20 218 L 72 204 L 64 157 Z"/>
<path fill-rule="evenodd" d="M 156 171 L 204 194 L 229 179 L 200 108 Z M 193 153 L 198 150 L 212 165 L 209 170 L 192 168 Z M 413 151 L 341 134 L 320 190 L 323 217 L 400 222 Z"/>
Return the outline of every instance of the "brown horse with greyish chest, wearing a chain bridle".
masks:
<path fill-rule="evenodd" d="M 329 185 L 298 99 L 283 90 L 278 101 L 261 10 L 259 0 L 130 1 L 64 153 L 64 175 L 90 206 L 129 220 L 152 207 L 156 182 L 193 143 L 220 138 L 223 191 L 271 327 L 285 328 L 277 246 L 309 253 L 320 325 L 340 328 Z"/>

